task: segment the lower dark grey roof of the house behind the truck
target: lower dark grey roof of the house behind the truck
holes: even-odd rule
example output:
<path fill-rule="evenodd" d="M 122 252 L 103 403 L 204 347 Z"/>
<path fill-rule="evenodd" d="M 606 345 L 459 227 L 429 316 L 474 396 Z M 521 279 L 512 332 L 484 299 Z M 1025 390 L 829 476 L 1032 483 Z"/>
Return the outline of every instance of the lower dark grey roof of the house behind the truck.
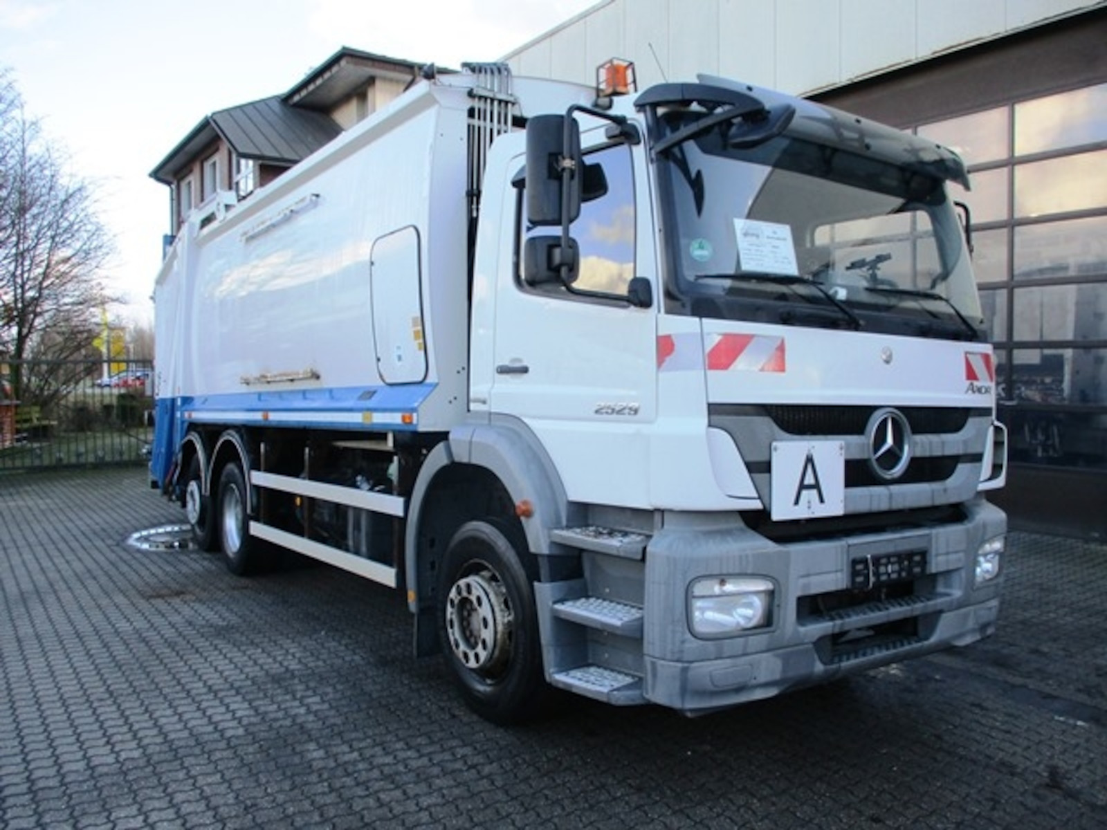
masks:
<path fill-rule="evenodd" d="M 205 116 L 149 175 L 172 185 L 177 170 L 220 137 L 241 158 L 293 165 L 341 132 L 327 115 L 290 106 L 273 95 Z"/>

